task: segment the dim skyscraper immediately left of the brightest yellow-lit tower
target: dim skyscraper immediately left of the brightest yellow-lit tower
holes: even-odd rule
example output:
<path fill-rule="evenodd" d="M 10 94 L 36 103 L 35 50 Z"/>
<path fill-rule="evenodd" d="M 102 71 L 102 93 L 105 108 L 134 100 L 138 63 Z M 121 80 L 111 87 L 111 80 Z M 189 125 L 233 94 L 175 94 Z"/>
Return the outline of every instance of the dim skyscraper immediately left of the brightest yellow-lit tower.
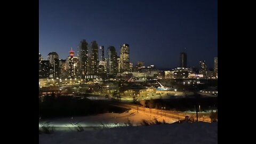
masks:
<path fill-rule="evenodd" d="M 109 46 L 107 51 L 107 73 L 110 76 L 117 74 L 117 53 L 114 46 Z"/>

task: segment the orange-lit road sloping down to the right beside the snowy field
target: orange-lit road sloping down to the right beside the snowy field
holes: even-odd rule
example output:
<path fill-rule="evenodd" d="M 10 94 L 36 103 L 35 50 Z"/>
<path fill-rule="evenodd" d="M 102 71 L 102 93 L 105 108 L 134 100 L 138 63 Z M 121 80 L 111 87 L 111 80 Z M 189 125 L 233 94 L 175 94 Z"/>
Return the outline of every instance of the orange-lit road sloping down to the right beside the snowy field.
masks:
<path fill-rule="evenodd" d="M 137 110 L 139 113 L 155 115 L 158 117 L 175 118 L 177 119 L 177 121 L 185 119 L 185 116 L 190 116 L 190 117 L 192 116 L 196 121 L 196 113 L 191 113 L 191 112 L 189 113 L 189 112 L 182 112 L 182 111 L 164 110 L 164 107 L 162 107 L 162 109 L 150 109 L 150 108 L 144 108 L 144 107 L 140 107 L 133 104 L 127 104 L 127 103 L 113 103 L 111 105 Z M 209 115 L 210 113 L 198 113 L 198 121 L 211 122 Z"/>

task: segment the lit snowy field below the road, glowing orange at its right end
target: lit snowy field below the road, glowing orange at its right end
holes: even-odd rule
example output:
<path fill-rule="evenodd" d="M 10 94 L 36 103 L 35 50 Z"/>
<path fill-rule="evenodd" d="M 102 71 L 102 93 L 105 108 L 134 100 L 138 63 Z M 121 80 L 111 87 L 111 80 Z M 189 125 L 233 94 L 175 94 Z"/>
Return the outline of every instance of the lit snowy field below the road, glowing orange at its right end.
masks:
<path fill-rule="evenodd" d="M 125 113 L 107 113 L 99 114 L 93 116 L 83 116 L 83 117 L 68 117 L 68 118 L 55 118 L 55 119 L 40 119 L 39 126 L 42 124 L 49 124 L 54 127 L 55 131 L 70 130 L 71 124 L 78 123 L 83 126 L 84 129 L 91 127 L 102 127 L 102 124 L 108 126 L 114 126 L 115 124 L 124 124 L 130 121 L 134 126 L 141 125 L 142 120 L 145 119 L 148 122 L 153 122 L 155 119 L 159 122 L 174 123 L 179 121 L 179 119 L 164 117 L 156 114 L 143 113 L 137 110 L 129 110 Z"/>

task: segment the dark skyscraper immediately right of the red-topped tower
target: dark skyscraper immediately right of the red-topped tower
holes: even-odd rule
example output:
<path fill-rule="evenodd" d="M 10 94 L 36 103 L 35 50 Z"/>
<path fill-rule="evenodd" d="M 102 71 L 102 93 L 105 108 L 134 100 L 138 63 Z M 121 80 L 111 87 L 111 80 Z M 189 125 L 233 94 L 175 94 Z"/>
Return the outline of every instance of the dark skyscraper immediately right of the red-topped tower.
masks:
<path fill-rule="evenodd" d="M 85 75 L 88 73 L 89 67 L 89 53 L 88 53 L 88 43 L 83 39 L 78 48 L 78 59 L 79 59 L 79 76 L 80 78 L 85 78 Z"/>

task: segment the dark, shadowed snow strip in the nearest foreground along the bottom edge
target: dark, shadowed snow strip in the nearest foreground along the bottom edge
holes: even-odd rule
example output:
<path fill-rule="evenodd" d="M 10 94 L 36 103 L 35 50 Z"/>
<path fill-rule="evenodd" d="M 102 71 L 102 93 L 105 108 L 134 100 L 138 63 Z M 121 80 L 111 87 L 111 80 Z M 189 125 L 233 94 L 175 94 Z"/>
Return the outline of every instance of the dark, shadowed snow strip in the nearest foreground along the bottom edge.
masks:
<path fill-rule="evenodd" d="M 128 126 L 112 129 L 57 131 L 39 134 L 39 143 L 218 143 L 218 123 Z"/>

